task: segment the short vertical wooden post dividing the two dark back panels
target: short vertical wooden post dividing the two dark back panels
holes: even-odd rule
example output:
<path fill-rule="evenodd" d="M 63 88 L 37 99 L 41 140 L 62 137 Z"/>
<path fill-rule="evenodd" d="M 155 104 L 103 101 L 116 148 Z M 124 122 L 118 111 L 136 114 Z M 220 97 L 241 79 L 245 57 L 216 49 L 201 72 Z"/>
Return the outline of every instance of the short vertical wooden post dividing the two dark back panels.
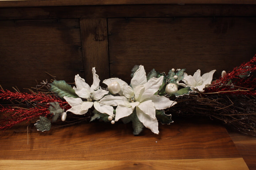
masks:
<path fill-rule="evenodd" d="M 100 80 L 109 78 L 106 18 L 80 19 L 86 83 L 92 84 L 92 67 Z"/>

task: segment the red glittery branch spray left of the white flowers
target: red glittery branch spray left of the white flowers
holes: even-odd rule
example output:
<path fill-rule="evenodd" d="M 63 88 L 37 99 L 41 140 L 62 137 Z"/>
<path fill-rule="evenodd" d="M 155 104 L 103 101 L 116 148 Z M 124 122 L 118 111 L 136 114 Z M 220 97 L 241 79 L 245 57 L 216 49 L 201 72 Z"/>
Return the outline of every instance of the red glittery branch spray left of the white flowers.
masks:
<path fill-rule="evenodd" d="M 70 108 L 65 100 L 54 95 L 43 94 L 42 92 L 28 94 L 0 90 L 0 98 L 11 101 L 22 100 L 21 102 L 27 105 L 27 108 L 2 106 L 0 112 L 4 113 L 4 115 L 3 119 L 0 119 L 0 129 L 11 128 L 18 123 L 39 118 L 40 116 L 49 116 L 48 108 L 50 102 L 58 102 L 60 107 L 64 109 Z"/>

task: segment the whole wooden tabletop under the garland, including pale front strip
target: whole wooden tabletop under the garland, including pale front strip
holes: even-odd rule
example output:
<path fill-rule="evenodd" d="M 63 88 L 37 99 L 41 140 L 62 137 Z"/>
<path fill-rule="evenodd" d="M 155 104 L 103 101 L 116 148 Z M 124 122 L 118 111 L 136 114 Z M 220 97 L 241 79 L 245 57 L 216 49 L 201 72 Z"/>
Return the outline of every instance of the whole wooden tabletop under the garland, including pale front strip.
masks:
<path fill-rule="evenodd" d="M 131 124 L 101 122 L 28 135 L 10 129 L 0 135 L 0 169 L 249 169 L 223 125 L 180 119 L 159 131 L 134 136 Z"/>

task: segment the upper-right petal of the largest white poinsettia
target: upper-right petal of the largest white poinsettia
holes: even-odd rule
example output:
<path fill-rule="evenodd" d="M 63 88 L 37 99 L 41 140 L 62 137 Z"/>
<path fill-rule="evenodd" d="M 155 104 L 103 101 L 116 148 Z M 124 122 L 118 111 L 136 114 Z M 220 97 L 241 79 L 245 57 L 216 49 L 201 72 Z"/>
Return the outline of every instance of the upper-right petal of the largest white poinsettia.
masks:
<path fill-rule="evenodd" d="M 152 97 L 155 92 L 159 90 L 159 87 L 163 83 L 163 79 L 164 76 L 149 79 L 149 81 L 143 85 L 145 87 L 145 90 L 143 91 L 142 96 L 139 98 L 139 101 L 142 102 L 145 99 Z"/>

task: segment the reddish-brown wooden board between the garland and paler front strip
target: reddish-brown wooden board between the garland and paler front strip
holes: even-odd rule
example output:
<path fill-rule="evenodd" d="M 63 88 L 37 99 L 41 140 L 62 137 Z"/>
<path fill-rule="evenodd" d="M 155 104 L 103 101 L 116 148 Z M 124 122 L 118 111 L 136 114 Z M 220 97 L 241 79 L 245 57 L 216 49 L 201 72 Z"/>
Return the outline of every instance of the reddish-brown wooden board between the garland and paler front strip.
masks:
<path fill-rule="evenodd" d="M 240 157 L 224 126 L 207 120 L 175 119 L 159 124 L 160 134 L 131 124 L 92 122 L 48 132 L 6 130 L 0 159 L 22 160 L 168 160 Z M 26 126 L 24 127 L 26 129 Z M 203 129 L 203 130 L 202 130 Z M 19 130 L 21 128 L 19 127 Z"/>

